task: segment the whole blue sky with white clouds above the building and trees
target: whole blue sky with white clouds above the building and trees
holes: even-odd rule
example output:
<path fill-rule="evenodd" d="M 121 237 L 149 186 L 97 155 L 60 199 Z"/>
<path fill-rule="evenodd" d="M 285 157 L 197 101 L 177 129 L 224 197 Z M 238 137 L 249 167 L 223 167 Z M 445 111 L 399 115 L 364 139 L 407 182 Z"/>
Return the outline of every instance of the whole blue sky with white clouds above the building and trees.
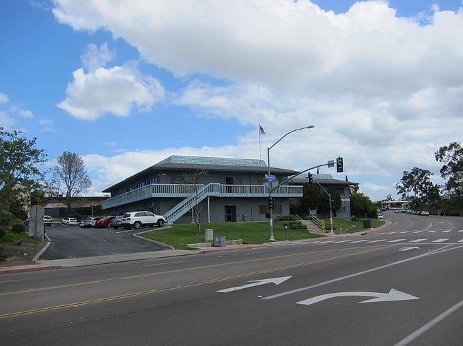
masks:
<path fill-rule="evenodd" d="M 272 166 L 343 156 L 321 173 L 373 201 L 413 167 L 443 183 L 434 152 L 462 141 L 461 0 L 114 3 L 0 3 L 0 126 L 37 137 L 50 167 L 82 156 L 89 195 L 173 154 L 267 161 L 309 124 Z"/>

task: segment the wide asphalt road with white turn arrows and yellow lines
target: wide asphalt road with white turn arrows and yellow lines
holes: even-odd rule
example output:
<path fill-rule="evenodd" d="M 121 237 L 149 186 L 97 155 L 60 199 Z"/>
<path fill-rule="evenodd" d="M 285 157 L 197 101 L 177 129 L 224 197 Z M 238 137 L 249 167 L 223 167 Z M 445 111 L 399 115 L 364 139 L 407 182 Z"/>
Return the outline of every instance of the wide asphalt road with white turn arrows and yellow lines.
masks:
<path fill-rule="evenodd" d="M 463 219 L 385 218 L 330 241 L 2 274 L 0 344 L 462 345 Z"/>

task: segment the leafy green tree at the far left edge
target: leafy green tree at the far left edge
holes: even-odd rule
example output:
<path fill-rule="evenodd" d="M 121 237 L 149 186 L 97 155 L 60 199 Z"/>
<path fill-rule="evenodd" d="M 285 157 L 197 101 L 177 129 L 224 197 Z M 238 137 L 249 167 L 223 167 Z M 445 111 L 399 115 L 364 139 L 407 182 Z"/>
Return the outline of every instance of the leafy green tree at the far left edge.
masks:
<path fill-rule="evenodd" d="M 26 139 L 21 131 L 0 128 L 0 207 L 22 216 L 30 205 L 30 192 L 41 187 L 46 162 L 43 149 L 35 147 L 37 139 Z"/>

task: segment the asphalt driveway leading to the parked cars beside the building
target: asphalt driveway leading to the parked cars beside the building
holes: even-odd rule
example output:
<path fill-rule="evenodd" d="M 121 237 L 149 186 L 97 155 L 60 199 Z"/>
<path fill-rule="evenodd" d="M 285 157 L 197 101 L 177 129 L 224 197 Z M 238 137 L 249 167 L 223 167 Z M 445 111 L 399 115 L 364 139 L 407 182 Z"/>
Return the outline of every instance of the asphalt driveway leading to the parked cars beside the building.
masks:
<path fill-rule="evenodd" d="M 111 254 L 135 254 L 165 250 L 165 247 L 133 236 L 137 232 L 153 230 L 124 230 L 112 228 L 82 228 L 53 223 L 45 227 L 50 246 L 40 256 L 41 260 L 104 256 Z"/>

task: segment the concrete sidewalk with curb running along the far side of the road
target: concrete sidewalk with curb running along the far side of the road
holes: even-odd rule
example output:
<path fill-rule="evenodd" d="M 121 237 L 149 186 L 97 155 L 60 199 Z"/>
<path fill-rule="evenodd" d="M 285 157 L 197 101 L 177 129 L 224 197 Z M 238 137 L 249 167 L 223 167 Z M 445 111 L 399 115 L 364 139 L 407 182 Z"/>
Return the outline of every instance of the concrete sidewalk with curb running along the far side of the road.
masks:
<path fill-rule="evenodd" d="M 224 252 L 224 251 L 237 251 L 245 249 L 256 249 L 270 246 L 278 245 L 291 245 L 294 243 L 312 243 L 314 241 L 326 241 L 333 240 L 336 238 L 343 238 L 346 236 L 361 236 L 370 233 L 379 232 L 390 227 L 392 223 L 386 221 L 386 225 L 377 227 L 361 233 L 355 234 L 330 234 L 329 232 L 325 234 L 323 238 L 310 238 L 310 239 L 301 239 L 298 241 L 272 241 L 270 243 L 264 244 L 236 244 L 236 245 L 226 245 L 224 247 L 211 247 L 197 246 L 196 250 L 160 250 L 153 252 L 138 252 L 135 254 L 114 254 L 106 256 L 93 256 L 93 257 L 82 257 L 82 258 L 64 258 L 57 260 L 37 260 L 37 263 L 32 265 L 17 265 L 13 267 L 0 267 L 0 274 L 8 273 L 17 273 L 17 272 L 32 272 L 37 270 L 45 269 L 58 269 L 66 267 L 84 267 L 88 265 L 101 265 L 108 263 L 120 263 L 120 262 L 129 262 L 129 261 L 140 261 L 144 259 L 153 259 L 153 258 L 167 258 L 175 256 L 187 256 L 192 254 L 205 254 L 209 252 Z M 199 245 L 199 244 L 198 244 Z"/>

